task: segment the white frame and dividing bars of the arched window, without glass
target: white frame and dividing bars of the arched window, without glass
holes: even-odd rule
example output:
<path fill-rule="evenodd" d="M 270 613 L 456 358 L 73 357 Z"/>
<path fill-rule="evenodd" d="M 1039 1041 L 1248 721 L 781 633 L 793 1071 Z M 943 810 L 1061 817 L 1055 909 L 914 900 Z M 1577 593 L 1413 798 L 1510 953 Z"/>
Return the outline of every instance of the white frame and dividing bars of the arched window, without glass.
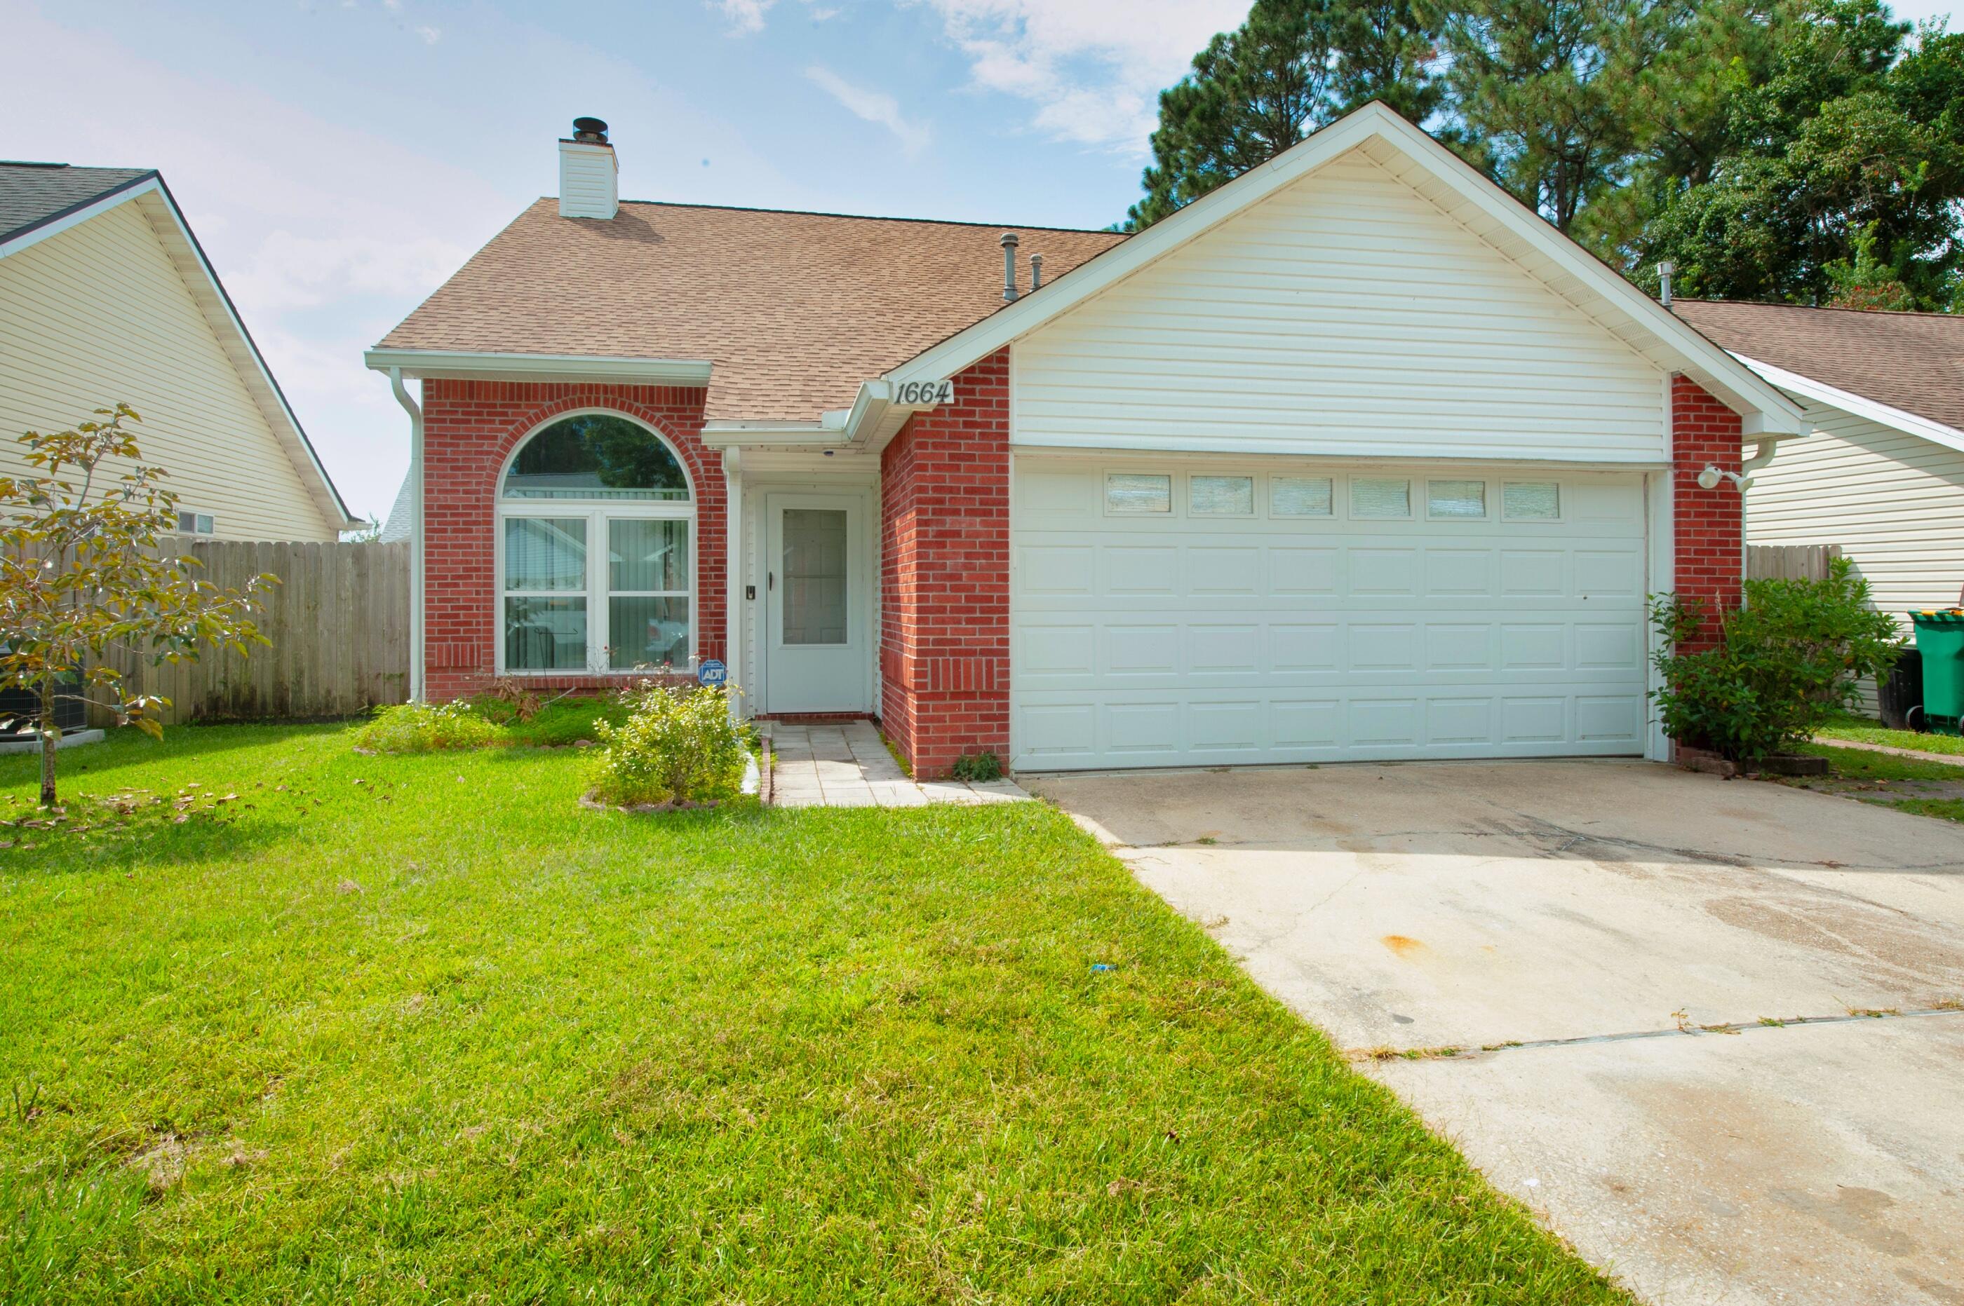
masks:
<path fill-rule="evenodd" d="M 650 436 L 662 442 L 662 448 L 670 452 L 676 465 L 682 467 L 682 481 L 689 491 L 685 501 L 680 499 L 507 499 L 505 497 L 505 477 L 511 473 L 513 465 L 518 462 L 518 454 L 528 446 L 538 432 L 548 426 L 556 426 L 572 416 L 617 416 L 634 422 Z M 695 503 L 697 503 L 695 477 L 689 473 L 689 462 L 676 448 L 676 442 L 664 436 L 660 430 L 640 420 L 632 412 L 621 412 L 619 408 L 573 408 L 570 412 L 554 412 L 550 418 L 524 432 L 517 444 L 511 446 L 511 454 L 499 463 L 497 479 L 491 483 L 493 499 L 493 520 L 491 520 L 491 642 L 495 644 L 495 666 L 499 676 L 520 676 L 520 678 L 634 678 L 646 676 L 646 670 L 632 668 L 611 668 L 607 666 L 607 646 L 611 642 L 609 607 L 607 599 L 613 591 L 607 587 L 607 564 L 609 564 L 609 544 L 607 544 L 607 518 L 656 518 L 656 520 L 687 520 L 689 522 L 689 568 L 685 591 L 642 591 L 642 589 L 623 589 L 623 597 L 656 597 L 656 599 L 687 599 L 689 601 L 689 662 L 687 668 L 693 670 L 697 658 L 701 656 L 701 591 L 697 587 L 697 577 L 701 575 L 701 554 L 697 552 L 697 526 L 695 526 Z M 585 589 L 554 589 L 554 591 L 507 591 L 505 589 L 505 522 L 515 517 L 540 517 L 540 518 L 568 518 L 583 517 L 587 520 L 587 587 Z M 511 668 L 505 666 L 505 599 L 585 599 L 587 601 L 587 664 L 581 668 Z"/>

